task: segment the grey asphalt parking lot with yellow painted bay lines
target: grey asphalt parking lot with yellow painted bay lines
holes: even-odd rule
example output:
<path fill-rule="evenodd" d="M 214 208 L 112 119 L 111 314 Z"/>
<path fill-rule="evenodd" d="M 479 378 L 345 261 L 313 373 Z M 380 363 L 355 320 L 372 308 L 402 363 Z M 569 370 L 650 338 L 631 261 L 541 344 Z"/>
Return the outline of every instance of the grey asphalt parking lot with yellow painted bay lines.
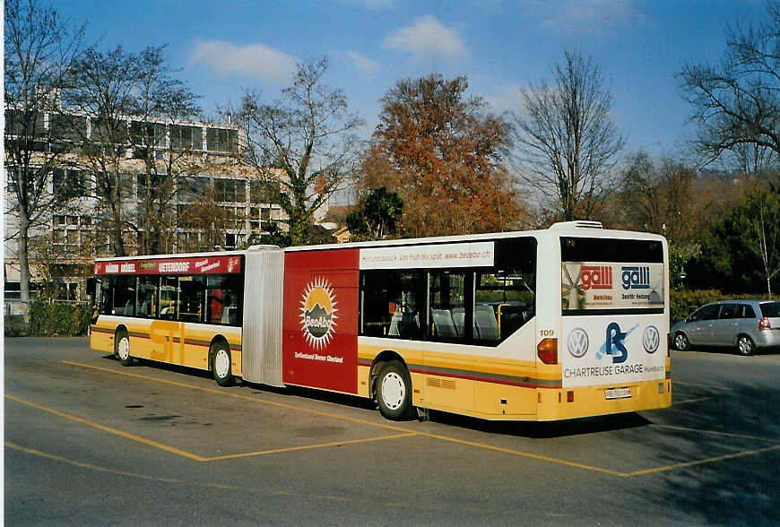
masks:
<path fill-rule="evenodd" d="M 432 413 L 4 341 L 9 524 L 774 524 L 780 356 L 674 352 L 670 409 Z"/>

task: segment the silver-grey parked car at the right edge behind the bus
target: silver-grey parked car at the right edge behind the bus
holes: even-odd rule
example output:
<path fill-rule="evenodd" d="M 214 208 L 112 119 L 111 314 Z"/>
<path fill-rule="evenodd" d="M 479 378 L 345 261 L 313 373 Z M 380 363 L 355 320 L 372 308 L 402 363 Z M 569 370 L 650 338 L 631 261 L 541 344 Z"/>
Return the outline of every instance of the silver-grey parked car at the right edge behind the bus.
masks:
<path fill-rule="evenodd" d="M 706 304 L 672 326 L 672 343 L 676 350 L 736 347 L 742 355 L 780 349 L 780 302 L 721 300 Z"/>

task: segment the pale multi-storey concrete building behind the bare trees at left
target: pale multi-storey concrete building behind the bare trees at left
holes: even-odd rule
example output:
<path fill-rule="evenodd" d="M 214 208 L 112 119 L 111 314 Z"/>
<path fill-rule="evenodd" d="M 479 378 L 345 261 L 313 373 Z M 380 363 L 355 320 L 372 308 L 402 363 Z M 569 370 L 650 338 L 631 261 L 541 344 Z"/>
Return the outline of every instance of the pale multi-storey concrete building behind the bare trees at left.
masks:
<path fill-rule="evenodd" d="M 6 123 L 13 122 L 13 109 L 6 108 Z M 62 133 L 51 134 L 37 148 L 40 152 L 60 149 L 58 168 L 50 171 L 46 193 L 56 206 L 48 210 L 30 230 L 31 289 L 43 284 L 56 285 L 57 298 L 82 300 L 83 283 L 91 273 L 91 262 L 97 256 L 111 255 L 111 244 L 105 229 L 104 207 L 97 192 L 96 169 L 82 154 L 82 147 L 91 138 L 100 143 L 100 123 L 88 116 L 56 109 L 39 115 L 42 130 L 56 127 Z M 158 230 L 164 231 L 158 245 L 159 253 L 185 253 L 215 248 L 233 249 L 261 235 L 278 222 L 287 226 L 279 204 L 264 192 L 256 170 L 241 163 L 246 138 L 240 127 L 231 123 L 140 121 L 127 117 L 129 134 L 147 133 L 154 138 L 155 166 L 152 172 L 163 179 L 168 175 L 169 198 L 158 217 Z M 6 130 L 13 134 L 13 129 Z M 84 142 L 84 137 L 87 142 Z M 136 146 L 134 146 L 134 143 Z M 128 140 L 119 160 L 121 214 L 126 252 L 146 254 L 143 231 L 149 220 L 144 210 L 144 195 L 150 186 L 150 169 L 137 155 L 137 142 Z M 43 155 L 41 153 L 40 155 Z M 173 157 L 176 162 L 171 163 Z M 13 181 L 8 155 L 4 161 L 6 173 L 4 297 L 19 298 L 20 271 L 17 239 L 18 208 L 15 207 Z M 325 216 L 325 210 L 317 216 Z M 158 211 L 160 212 L 160 211 Z"/>

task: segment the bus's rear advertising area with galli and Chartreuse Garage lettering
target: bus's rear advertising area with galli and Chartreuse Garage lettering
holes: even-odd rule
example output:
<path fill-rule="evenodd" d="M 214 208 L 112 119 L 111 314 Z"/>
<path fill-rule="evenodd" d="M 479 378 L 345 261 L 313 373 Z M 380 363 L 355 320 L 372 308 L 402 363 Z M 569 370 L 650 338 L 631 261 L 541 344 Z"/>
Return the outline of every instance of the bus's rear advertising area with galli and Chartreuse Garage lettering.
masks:
<path fill-rule="evenodd" d="M 663 305 L 663 263 L 561 263 L 563 386 L 663 380 Z"/>

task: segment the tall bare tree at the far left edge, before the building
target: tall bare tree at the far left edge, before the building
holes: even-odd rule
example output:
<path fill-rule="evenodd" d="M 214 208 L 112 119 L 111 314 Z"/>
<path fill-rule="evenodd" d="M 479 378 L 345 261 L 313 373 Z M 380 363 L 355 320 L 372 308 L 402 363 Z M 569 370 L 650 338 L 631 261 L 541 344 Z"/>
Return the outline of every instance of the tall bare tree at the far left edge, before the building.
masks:
<path fill-rule="evenodd" d="M 79 56 L 83 27 L 72 30 L 53 7 L 37 0 L 6 0 L 4 30 L 5 168 L 10 212 L 18 230 L 21 297 L 30 299 L 30 229 L 56 204 L 49 176 L 64 155 L 51 148 L 56 127 L 48 113 L 58 109 L 65 70 Z M 54 135 L 53 135 L 54 134 Z"/>

